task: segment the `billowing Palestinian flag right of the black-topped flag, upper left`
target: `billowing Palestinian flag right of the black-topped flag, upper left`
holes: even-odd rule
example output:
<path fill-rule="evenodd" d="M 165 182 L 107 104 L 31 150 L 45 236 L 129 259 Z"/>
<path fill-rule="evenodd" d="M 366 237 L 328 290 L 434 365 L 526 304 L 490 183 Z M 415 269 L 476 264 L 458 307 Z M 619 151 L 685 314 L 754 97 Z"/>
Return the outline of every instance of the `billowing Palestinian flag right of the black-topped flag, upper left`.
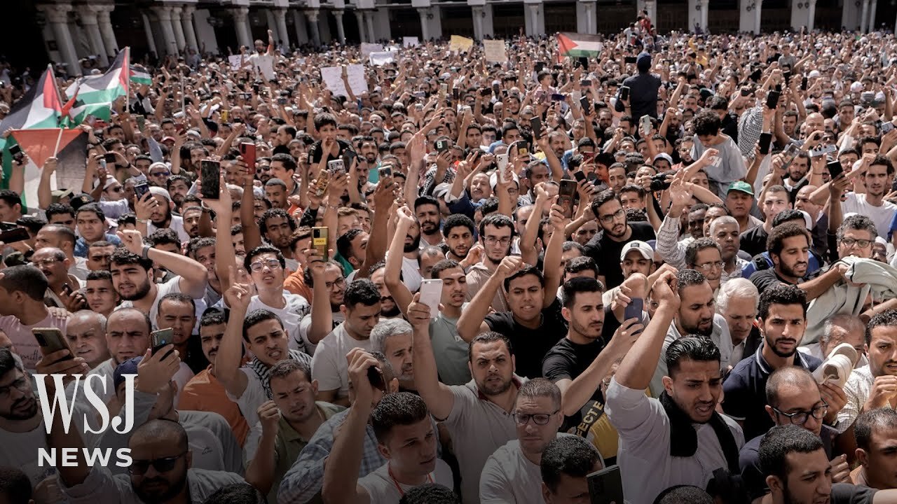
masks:
<path fill-rule="evenodd" d="M 65 90 L 66 98 L 74 99 L 66 121 L 69 125 L 79 125 L 87 116 L 109 121 L 112 103 L 121 96 L 127 96 L 130 74 L 128 52 L 129 48 L 119 51 L 105 74 L 82 77 Z"/>

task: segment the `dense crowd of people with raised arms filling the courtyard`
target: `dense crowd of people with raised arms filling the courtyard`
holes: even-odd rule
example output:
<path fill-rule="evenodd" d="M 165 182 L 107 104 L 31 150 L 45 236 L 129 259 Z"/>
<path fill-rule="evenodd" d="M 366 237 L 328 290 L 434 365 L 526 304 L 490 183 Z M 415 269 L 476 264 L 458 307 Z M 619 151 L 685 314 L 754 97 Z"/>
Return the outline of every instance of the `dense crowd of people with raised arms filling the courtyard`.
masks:
<path fill-rule="evenodd" d="M 893 35 L 506 50 L 269 32 L 13 161 L 0 502 L 897 502 Z"/>

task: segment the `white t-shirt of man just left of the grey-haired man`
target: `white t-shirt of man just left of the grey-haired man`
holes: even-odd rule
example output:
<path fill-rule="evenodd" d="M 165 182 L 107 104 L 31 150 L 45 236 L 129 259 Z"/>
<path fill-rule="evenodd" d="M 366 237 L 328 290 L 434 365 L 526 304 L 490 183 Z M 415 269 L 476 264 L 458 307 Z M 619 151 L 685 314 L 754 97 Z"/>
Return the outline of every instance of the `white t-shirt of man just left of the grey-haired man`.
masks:
<path fill-rule="evenodd" d="M 337 390 L 336 397 L 349 396 L 349 363 L 345 355 L 356 347 L 373 351 L 370 339 L 356 340 L 346 332 L 345 322 L 324 336 L 311 358 L 311 378 L 318 380 L 318 390 Z"/>

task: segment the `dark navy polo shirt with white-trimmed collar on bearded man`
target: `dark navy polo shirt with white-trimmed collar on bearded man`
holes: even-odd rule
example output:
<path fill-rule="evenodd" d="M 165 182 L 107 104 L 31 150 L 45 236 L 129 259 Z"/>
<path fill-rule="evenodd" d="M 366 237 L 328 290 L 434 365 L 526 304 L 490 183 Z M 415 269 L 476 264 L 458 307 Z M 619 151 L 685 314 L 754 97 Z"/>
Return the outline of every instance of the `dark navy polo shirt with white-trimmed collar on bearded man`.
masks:
<path fill-rule="evenodd" d="M 723 382 L 723 413 L 744 422 L 745 439 L 761 436 L 773 426 L 766 413 L 766 379 L 775 369 L 763 358 L 764 344 L 753 357 L 738 362 Z M 795 352 L 794 365 L 799 368 L 813 372 L 822 363 L 812 355 Z"/>

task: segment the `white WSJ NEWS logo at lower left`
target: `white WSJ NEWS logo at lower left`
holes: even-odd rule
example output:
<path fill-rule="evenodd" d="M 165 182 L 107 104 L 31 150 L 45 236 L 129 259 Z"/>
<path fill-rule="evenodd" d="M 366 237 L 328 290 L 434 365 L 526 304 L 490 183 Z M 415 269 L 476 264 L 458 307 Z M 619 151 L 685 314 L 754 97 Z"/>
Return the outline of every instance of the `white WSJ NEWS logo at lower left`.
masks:
<path fill-rule="evenodd" d="M 74 383 L 71 384 L 73 389 L 71 403 L 69 403 L 68 397 L 65 396 L 65 384 L 63 383 L 65 375 L 49 375 L 50 378 L 53 378 L 53 383 L 56 387 L 56 391 L 52 397 L 48 395 L 47 386 L 44 383 L 44 377 L 46 376 L 48 375 L 36 374 L 34 375 L 34 378 L 38 386 L 38 401 L 40 403 L 41 413 L 43 413 L 44 417 L 44 427 L 46 427 L 48 434 L 53 428 L 53 421 L 56 419 L 57 413 L 61 415 L 60 421 L 62 421 L 63 430 L 68 434 L 72 425 L 75 405 L 78 402 L 79 390 L 84 391 L 84 400 L 91 404 L 92 409 L 97 413 L 92 414 L 92 412 L 86 411 L 86 405 L 78 404 L 79 409 L 85 412 L 83 413 L 84 433 L 102 434 L 106 430 L 109 430 L 109 427 L 111 426 L 112 430 L 118 432 L 118 434 L 126 434 L 134 428 L 134 378 L 137 375 L 123 375 L 125 378 L 124 421 L 122 421 L 120 416 L 112 418 L 111 421 L 109 420 L 111 416 L 109 414 L 109 409 L 106 407 L 106 404 L 103 403 L 100 396 L 94 392 L 93 387 L 91 387 L 93 382 L 99 380 L 100 390 L 102 390 L 103 393 L 106 393 L 107 380 L 103 375 L 92 374 L 87 375 L 86 377 L 83 377 L 83 375 L 74 375 Z M 81 383 L 82 378 L 84 380 L 83 386 Z M 94 418 L 91 419 L 91 416 Z M 98 417 L 100 426 L 98 429 L 93 429 L 91 421 L 96 423 Z M 109 461 L 113 456 L 113 451 L 117 460 L 115 465 L 118 467 L 129 467 L 132 462 L 130 448 L 118 448 L 118 450 L 113 450 L 113 448 L 81 448 L 81 450 L 83 452 L 84 460 L 87 462 L 87 465 L 90 465 L 91 467 L 94 465 L 108 467 Z M 38 448 L 38 465 L 41 467 L 44 465 L 61 465 L 63 467 L 74 467 L 78 465 L 77 448 L 61 448 L 58 451 L 60 453 L 57 453 L 57 448 Z"/>

